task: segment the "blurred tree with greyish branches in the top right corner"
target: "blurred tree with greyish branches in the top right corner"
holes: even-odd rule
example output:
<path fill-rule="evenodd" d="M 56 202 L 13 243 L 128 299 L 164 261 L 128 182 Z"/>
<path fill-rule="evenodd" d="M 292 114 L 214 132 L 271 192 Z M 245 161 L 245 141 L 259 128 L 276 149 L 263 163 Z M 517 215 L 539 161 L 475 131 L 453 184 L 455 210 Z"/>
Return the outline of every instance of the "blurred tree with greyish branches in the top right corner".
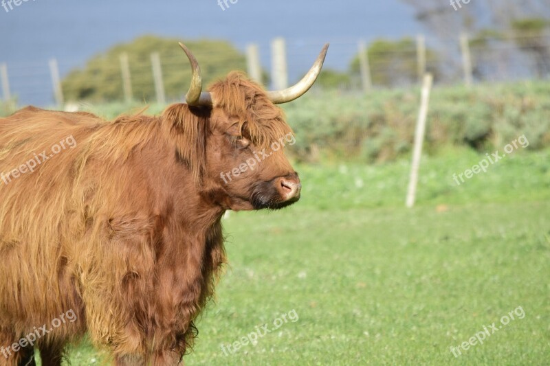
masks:
<path fill-rule="evenodd" d="M 525 69 L 525 62 L 518 62 L 521 52 L 535 60 L 539 76 L 549 72 L 550 46 L 542 37 L 548 35 L 542 25 L 550 18 L 549 0 L 401 1 L 414 8 L 417 19 L 439 38 L 445 64 L 452 69 L 460 69 L 458 49 L 445 45 L 456 44 L 453 40 L 465 32 L 470 35 L 477 78 Z"/>

